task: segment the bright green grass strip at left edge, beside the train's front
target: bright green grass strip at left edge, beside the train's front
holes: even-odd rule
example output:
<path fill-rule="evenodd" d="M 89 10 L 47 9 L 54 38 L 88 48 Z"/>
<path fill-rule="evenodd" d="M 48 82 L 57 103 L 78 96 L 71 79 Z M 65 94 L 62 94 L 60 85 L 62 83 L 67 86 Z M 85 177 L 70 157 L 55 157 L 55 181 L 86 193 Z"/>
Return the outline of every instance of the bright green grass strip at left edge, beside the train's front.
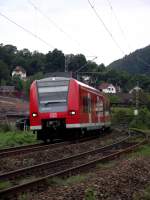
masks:
<path fill-rule="evenodd" d="M 32 132 L 10 131 L 0 132 L 0 149 L 37 143 Z"/>

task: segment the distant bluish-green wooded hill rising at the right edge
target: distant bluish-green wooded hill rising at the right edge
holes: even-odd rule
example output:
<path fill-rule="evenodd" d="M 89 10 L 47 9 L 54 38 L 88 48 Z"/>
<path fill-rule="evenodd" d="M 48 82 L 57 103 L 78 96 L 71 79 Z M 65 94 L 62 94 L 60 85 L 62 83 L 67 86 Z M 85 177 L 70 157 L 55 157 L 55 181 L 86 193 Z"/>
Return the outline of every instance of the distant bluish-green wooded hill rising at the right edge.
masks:
<path fill-rule="evenodd" d="M 120 69 L 131 74 L 150 74 L 150 46 L 138 49 L 122 59 L 112 62 L 111 69 Z"/>

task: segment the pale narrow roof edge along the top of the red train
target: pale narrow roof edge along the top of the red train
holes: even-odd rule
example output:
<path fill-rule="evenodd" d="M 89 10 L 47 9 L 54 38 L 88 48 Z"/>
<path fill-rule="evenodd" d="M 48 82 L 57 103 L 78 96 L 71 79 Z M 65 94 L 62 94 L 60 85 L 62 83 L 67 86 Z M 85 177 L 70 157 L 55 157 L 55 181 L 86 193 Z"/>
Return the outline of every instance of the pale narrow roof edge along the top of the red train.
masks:
<path fill-rule="evenodd" d="M 94 90 L 95 92 L 100 92 L 100 90 L 96 89 L 96 88 L 93 88 L 85 83 L 82 83 L 74 78 L 66 78 L 66 77 L 48 77 L 48 78 L 43 78 L 43 79 L 40 79 L 40 80 L 37 80 L 37 82 L 48 82 L 48 81 L 70 81 L 70 80 L 74 80 L 76 81 L 79 85 L 83 86 L 83 87 L 86 87 L 86 88 L 89 88 L 91 90 Z"/>

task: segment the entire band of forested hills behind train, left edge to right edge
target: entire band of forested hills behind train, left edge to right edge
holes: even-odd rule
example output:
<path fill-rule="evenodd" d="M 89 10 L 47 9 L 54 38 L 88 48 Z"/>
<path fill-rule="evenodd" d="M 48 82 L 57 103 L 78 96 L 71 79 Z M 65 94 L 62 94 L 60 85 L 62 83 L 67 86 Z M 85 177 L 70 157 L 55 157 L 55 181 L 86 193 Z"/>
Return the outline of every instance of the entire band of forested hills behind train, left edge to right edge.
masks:
<path fill-rule="evenodd" d="M 148 65 L 150 46 L 137 50 L 105 67 L 104 64 L 98 65 L 86 60 L 83 54 L 64 55 L 58 49 L 43 54 L 37 51 L 30 52 L 28 49 L 18 50 L 13 45 L 1 44 L 0 85 L 13 85 L 16 90 L 23 91 L 28 96 L 33 80 L 43 78 L 47 73 L 64 72 L 65 62 L 69 72 L 78 71 L 81 81 L 83 81 L 83 76 L 88 76 L 88 84 L 94 87 L 98 87 L 102 82 L 108 82 L 120 86 L 123 92 L 128 92 L 138 82 L 144 91 L 150 92 L 150 65 Z M 26 70 L 26 81 L 18 77 L 12 78 L 11 73 L 16 66 L 22 66 Z"/>

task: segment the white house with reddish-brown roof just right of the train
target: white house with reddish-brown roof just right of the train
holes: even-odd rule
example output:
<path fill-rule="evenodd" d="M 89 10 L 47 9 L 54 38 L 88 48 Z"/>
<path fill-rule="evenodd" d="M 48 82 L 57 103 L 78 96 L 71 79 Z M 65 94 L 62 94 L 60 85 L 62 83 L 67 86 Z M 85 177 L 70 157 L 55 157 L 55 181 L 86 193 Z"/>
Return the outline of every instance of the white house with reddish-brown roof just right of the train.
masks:
<path fill-rule="evenodd" d="M 99 89 L 104 93 L 111 93 L 111 94 L 116 94 L 117 93 L 116 87 L 111 83 L 102 83 L 99 86 Z"/>

